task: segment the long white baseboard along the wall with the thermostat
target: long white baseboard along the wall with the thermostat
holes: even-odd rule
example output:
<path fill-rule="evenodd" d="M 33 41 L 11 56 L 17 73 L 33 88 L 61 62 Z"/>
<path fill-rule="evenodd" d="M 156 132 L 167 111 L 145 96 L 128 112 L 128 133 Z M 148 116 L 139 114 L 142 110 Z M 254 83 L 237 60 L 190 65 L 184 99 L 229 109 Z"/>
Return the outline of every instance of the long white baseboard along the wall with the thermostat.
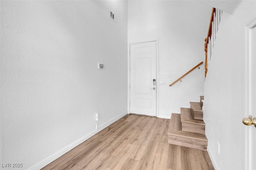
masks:
<path fill-rule="evenodd" d="M 52 156 L 49 156 L 48 158 L 46 158 L 45 160 L 42 160 L 41 162 L 39 162 L 38 164 L 32 166 L 31 168 L 29 168 L 28 170 L 39 170 L 41 168 L 43 168 L 44 166 L 50 164 L 52 161 L 56 160 L 57 158 L 59 158 L 60 156 L 64 155 L 65 153 L 67 153 L 68 151 L 70 151 L 71 149 L 73 149 L 74 147 L 78 146 L 79 144 L 81 144 L 82 142 L 84 142 L 85 140 L 87 140 L 88 138 L 92 137 L 94 134 L 100 132 L 101 130 L 103 130 L 104 128 L 108 127 L 109 125 L 111 125 L 112 123 L 118 121 L 119 119 L 121 119 L 122 117 L 124 117 L 125 115 L 127 115 L 127 112 L 122 113 L 121 115 L 119 115 L 118 117 L 112 119 L 111 121 L 109 121 L 108 123 L 102 125 L 101 127 L 99 127 L 98 129 L 90 132 L 89 134 L 85 135 L 84 137 L 76 140 L 75 142 L 73 142 L 72 144 L 66 146 L 65 148 L 63 148 L 62 150 L 56 152 L 55 154 L 53 154 Z"/>

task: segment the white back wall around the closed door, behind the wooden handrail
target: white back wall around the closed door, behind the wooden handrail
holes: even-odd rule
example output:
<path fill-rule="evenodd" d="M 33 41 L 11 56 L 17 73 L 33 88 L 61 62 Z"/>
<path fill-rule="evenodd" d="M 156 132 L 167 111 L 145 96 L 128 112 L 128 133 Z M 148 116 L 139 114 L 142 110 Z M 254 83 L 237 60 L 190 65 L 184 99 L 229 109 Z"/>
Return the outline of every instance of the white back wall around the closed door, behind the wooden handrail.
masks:
<path fill-rule="evenodd" d="M 196 1 L 128 1 L 128 43 L 159 39 L 159 117 L 169 118 L 204 94 L 204 65 L 169 85 L 204 61 L 212 7 Z"/>

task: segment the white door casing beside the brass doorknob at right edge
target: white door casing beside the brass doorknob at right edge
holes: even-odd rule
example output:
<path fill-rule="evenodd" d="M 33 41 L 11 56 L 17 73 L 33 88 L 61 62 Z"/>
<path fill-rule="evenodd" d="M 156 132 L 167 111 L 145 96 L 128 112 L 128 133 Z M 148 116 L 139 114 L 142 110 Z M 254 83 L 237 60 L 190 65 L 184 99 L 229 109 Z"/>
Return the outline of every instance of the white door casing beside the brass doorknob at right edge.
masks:
<path fill-rule="evenodd" d="M 252 28 L 256 26 L 256 18 L 245 27 L 245 100 L 244 117 L 252 115 Z M 252 170 L 252 127 L 245 127 L 245 169 Z"/>

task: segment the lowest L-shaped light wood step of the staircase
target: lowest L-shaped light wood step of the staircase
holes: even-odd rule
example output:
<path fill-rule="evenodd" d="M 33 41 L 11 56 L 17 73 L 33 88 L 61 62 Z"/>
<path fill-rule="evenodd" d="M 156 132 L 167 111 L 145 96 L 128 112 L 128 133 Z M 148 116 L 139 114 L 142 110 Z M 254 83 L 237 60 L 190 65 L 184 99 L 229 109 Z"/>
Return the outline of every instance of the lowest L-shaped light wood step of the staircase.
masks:
<path fill-rule="evenodd" d="M 208 140 L 205 134 L 183 131 L 180 114 L 172 113 L 168 128 L 168 143 L 207 150 Z"/>

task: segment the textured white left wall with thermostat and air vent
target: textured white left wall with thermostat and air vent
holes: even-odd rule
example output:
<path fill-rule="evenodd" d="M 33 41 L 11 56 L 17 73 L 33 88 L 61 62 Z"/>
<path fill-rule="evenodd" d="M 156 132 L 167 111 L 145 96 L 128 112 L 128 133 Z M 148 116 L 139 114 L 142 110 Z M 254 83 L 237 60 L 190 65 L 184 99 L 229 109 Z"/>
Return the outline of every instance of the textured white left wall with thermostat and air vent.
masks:
<path fill-rule="evenodd" d="M 96 132 L 95 113 L 125 115 L 126 57 L 126 1 L 1 1 L 0 162 L 42 168 Z"/>

